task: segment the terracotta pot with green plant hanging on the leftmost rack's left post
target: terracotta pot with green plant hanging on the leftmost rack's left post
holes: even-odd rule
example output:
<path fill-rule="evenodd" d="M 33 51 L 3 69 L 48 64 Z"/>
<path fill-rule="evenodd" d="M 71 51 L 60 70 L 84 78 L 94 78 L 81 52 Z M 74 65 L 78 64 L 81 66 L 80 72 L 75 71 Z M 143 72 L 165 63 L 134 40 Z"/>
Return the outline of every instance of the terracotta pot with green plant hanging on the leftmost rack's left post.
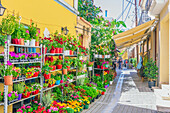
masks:
<path fill-rule="evenodd" d="M 7 68 L 5 69 L 5 65 L 4 64 L 0 64 L 0 74 L 1 75 L 4 75 L 4 82 L 5 82 L 5 85 L 12 85 L 13 82 L 12 82 L 12 73 L 13 73 L 13 70 L 12 70 L 12 63 L 7 61 Z"/>

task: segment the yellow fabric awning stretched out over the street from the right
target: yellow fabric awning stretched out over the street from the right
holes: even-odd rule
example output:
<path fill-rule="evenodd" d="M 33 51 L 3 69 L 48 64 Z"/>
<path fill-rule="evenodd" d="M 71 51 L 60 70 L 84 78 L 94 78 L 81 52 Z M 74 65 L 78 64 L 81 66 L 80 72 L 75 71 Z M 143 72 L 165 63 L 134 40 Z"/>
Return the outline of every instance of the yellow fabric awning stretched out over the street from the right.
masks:
<path fill-rule="evenodd" d="M 149 29 L 153 27 L 155 20 L 146 22 L 140 26 L 114 36 L 118 48 L 129 47 L 141 41 L 143 37 L 149 35 Z"/>

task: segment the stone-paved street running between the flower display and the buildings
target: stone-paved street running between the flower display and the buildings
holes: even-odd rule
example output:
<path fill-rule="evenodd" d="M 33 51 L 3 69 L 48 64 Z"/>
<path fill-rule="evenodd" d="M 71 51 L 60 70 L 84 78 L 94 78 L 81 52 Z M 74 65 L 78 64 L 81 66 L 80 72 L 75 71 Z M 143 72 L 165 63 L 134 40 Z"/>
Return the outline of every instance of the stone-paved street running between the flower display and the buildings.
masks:
<path fill-rule="evenodd" d="M 147 82 L 141 82 L 135 70 L 118 70 L 118 76 L 104 96 L 83 113 L 161 113 Z"/>

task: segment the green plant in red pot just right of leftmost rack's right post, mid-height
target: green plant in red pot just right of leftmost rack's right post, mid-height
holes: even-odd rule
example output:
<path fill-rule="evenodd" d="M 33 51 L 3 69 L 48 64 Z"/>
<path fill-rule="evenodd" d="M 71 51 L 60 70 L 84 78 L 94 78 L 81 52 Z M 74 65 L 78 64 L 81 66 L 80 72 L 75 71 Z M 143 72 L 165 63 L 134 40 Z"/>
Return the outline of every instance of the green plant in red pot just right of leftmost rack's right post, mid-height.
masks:
<path fill-rule="evenodd" d="M 52 68 L 49 66 L 48 63 L 46 63 L 43 67 L 42 67 L 42 74 L 44 75 L 45 79 L 50 79 L 51 78 L 51 73 L 50 70 Z"/>

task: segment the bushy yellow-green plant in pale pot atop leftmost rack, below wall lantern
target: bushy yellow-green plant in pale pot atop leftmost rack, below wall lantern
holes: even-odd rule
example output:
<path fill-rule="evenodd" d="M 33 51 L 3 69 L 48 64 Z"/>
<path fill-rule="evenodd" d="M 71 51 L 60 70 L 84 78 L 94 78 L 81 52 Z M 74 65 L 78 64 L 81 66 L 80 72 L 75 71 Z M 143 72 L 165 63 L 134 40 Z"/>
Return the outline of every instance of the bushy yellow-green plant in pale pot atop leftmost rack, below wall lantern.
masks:
<path fill-rule="evenodd" d="M 11 34 L 15 31 L 16 18 L 13 15 L 7 15 L 6 18 L 2 18 L 1 30 L 3 34 L 7 35 L 7 39 L 11 43 Z"/>

